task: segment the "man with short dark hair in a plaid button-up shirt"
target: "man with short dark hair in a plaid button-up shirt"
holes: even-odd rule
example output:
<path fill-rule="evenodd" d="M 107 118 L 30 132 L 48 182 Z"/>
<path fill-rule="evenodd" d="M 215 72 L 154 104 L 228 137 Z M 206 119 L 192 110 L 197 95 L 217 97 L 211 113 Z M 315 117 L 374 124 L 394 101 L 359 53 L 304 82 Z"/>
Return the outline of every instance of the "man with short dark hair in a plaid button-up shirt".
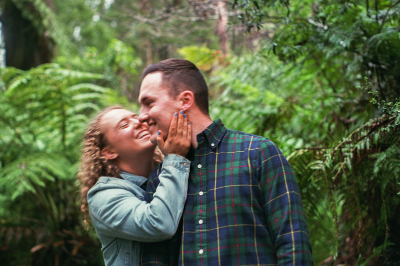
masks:
<path fill-rule="evenodd" d="M 178 231 L 167 243 L 144 244 L 141 264 L 312 265 L 297 182 L 276 145 L 212 121 L 207 85 L 191 62 L 167 59 L 147 66 L 142 78 L 139 121 L 147 122 L 150 141 L 158 130 L 168 132 L 169 117 L 179 110 L 193 134 Z M 150 175 L 147 201 L 159 173 L 160 167 Z"/>

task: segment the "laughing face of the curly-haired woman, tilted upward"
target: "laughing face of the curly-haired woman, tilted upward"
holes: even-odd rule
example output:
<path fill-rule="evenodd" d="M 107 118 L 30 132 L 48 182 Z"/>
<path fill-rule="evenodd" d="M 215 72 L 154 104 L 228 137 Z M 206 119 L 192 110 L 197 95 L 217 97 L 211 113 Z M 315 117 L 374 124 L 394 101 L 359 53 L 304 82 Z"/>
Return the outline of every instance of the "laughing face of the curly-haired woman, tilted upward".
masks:
<path fill-rule="evenodd" d="M 101 154 L 108 159 L 129 161 L 140 155 L 153 154 L 155 145 L 150 142 L 147 123 L 125 109 L 113 109 L 100 120 L 100 130 L 105 132 L 106 147 Z"/>

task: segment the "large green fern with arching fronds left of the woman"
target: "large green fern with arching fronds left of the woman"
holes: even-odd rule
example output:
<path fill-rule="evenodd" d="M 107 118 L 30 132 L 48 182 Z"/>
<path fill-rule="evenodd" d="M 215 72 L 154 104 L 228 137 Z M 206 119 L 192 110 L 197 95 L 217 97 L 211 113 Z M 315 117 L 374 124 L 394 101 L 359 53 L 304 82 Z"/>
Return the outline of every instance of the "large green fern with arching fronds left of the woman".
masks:
<path fill-rule="evenodd" d="M 88 119 L 117 99 L 115 91 L 93 83 L 102 78 L 57 64 L 1 69 L 1 261 L 102 263 L 98 241 L 80 223 L 75 185 Z"/>

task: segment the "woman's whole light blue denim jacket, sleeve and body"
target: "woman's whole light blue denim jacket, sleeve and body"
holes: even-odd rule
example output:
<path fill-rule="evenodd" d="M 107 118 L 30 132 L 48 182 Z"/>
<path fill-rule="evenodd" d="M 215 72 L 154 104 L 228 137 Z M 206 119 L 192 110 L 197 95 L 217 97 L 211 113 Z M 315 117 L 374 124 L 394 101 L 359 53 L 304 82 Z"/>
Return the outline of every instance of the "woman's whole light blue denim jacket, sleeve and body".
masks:
<path fill-rule="evenodd" d="M 168 154 L 151 203 L 140 188 L 147 178 L 121 172 L 100 177 L 87 193 L 89 214 L 101 242 L 105 266 L 137 266 L 139 242 L 171 238 L 186 200 L 190 161 Z"/>

